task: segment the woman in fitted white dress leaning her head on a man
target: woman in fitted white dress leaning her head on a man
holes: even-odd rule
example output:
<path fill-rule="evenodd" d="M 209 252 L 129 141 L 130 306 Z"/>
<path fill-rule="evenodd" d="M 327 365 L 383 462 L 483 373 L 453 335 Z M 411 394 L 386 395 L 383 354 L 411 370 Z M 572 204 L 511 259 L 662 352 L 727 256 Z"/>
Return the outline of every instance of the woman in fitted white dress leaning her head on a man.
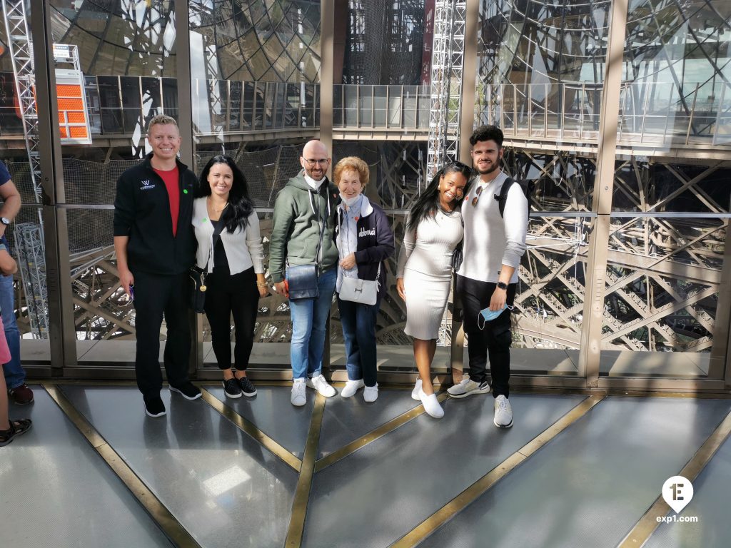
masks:
<path fill-rule="evenodd" d="M 460 207 L 471 168 L 455 161 L 442 167 L 414 202 L 398 254 L 396 289 L 406 301 L 406 335 L 414 338 L 420 379 L 412 392 L 425 411 L 444 416 L 431 384 L 431 362 L 452 281 L 452 254 L 464 232 Z"/>

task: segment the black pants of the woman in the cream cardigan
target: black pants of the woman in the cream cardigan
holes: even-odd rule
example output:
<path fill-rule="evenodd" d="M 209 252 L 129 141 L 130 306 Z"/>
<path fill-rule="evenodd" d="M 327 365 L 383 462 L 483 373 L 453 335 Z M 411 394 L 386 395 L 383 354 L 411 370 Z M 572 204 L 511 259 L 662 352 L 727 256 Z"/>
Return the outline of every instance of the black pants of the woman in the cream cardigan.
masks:
<path fill-rule="evenodd" d="M 236 328 L 234 365 L 246 370 L 254 346 L 259 289 L 254 267 L 230 275 L 227 268 L 213 270 L 205 280 L 205 316 L 211 326 L 213 354 L 219 369 L 231 368 L 231 315 Z"/>

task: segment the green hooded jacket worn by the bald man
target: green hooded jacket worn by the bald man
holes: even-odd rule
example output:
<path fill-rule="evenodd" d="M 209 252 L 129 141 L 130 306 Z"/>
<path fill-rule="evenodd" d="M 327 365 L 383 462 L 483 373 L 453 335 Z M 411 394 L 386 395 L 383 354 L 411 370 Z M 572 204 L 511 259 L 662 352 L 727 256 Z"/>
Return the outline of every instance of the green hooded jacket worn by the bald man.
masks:
<path fill-rule="evenodd" d="M 338 189 L 325 178 L 319 191 L 307 184 L 304 171 L 287 181 L 274 202 L 274 218 L 269 244 L 269 271 L 273 283 L 284 280 L 284 269 L 289 265 L 314 265 L 322 217 L 327 216 L 322 235 L 320 266 L 322 270 L 338 262 L 335 246 L 336 205 Z M 319 218 L 316 215 L 319 212 Z"/>

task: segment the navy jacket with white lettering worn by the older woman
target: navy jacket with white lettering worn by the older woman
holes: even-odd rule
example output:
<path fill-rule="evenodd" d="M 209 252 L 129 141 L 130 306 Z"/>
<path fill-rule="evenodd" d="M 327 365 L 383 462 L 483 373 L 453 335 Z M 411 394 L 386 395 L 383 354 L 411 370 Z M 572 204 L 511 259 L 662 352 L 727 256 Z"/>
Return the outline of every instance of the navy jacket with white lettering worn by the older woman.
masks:
<path fill-rule="evenodd" d="M 338 208 L 338 226 L 335 229 L 336 237 L 343 224 L 343 211 Z M 385 260 L 393 256 L 393 232 L 388 217 L 378 205 L 368 202 L 364 205 L 360 218 L 355 221 L 357 227 L 357 247 L 355 248 L 355 263 L 358 267 L 358 278 L 361 280 L 375 280 L 378 265 L 381 265 L 379 276 L 379 293 L 386 291 Z"/>

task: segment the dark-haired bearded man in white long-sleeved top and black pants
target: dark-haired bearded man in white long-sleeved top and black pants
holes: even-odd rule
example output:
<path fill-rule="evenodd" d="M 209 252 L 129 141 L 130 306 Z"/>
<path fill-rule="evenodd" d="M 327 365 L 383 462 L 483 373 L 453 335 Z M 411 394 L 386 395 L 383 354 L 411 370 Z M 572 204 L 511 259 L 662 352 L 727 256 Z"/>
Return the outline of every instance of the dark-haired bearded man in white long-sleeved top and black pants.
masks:
<path fill-rule="evenodd" d="M 489 357 L 495 398 L 493 422 L 497 427 L 509 428 L 512 426 L 508 401 L 510 309 L 520 257 L 526 251 L 528 203 L 520 185 L 512 184 L 504 214 L 500 213 L 497 197 L 508 178 L 500 169 L 503 156 L 500 129 L 479 127 L 469 142 L 477 176 L 471 181 L 462 205 L 464 259 L 457 272 L 456 289 L 462 299 L 463 326 L 469 341 L 469 377 L 447 392 L 457 398 L 490 392 L 486 371 Z"/>

